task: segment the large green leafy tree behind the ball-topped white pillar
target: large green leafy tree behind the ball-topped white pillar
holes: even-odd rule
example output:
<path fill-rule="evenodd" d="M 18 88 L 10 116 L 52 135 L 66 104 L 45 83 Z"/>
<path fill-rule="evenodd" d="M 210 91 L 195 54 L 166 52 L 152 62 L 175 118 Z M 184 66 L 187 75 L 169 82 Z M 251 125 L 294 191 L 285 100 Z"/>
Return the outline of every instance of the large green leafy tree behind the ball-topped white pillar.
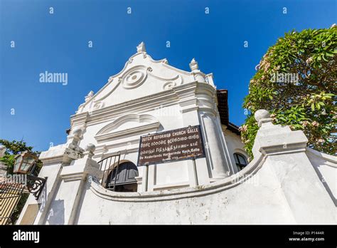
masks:
<path fill-rule="evenodd" d="M 310 148 L 336 154 L 336 34 L 336 25 L 291 31 L 263 56 L 243 104 L 250 114 L 240 127 L 251 157 L 259 109 L 269 110 L 274 124 L 303 130 Z"/>

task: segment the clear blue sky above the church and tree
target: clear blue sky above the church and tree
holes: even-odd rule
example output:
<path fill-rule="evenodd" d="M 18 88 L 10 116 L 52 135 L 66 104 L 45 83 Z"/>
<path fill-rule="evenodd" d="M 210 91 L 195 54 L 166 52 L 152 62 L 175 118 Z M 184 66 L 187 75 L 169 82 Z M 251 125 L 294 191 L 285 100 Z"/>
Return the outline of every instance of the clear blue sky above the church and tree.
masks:
<path fill-rule="evenodd" d="M 218 89 L 228 89 L 230 121 L 241 125 L 243 98 L 267 48 L 292 29 L 336 22 L 336 1 L 326 0 L 0 0 L 0 138 L 23 138 L 36 150 L 64 143 L 85 95 L 122 70 L 141 41 L 152 58 L 186 71 L 195 57 Z M 68 85 L 40 83 L 44 71 L 68 73 Z"/>

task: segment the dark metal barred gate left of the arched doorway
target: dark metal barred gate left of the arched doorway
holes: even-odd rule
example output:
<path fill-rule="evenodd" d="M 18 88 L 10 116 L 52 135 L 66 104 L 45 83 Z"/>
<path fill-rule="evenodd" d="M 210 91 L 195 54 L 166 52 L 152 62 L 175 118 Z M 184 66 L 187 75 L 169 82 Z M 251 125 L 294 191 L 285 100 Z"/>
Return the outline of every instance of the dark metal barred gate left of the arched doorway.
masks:
<path fill-rule="evenodd" d="M 104 167 L 104 170 L 103 170 L 104 174 L 103 174 L 101 185 L 108 190 L 113 190 L 113 191 L 116 190 L 116 180 L 117 180 L 120 156 L 121 156 L 120 153 L 118 153 L 116 155 L 105 157 L 105 159 L 100 160 L 100 162 L 98 162 L 98 164 L 100 165 L 100 170 L 102 170 Z M 113 173 L 114 170 L 116 170 L 115 173 Z M 114 184 L 111 185 L 110 182 L 112 180 L 113 174 L 114 174 Z"/>

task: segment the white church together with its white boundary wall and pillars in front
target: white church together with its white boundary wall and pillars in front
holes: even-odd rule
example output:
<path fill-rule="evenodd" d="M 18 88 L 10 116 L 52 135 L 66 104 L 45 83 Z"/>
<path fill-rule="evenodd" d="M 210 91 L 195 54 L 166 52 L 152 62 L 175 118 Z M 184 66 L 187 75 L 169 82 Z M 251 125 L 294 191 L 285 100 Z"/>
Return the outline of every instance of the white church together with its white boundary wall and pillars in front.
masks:
<path fill-rule="evenodd" d="M 336 224 L 336 157 L 259 110 L 248 163 L 228 91 L 190 68 L 139 44 L 70 117 L 67 143 L 41 153 L 46 186 L 17 224 Z"/>

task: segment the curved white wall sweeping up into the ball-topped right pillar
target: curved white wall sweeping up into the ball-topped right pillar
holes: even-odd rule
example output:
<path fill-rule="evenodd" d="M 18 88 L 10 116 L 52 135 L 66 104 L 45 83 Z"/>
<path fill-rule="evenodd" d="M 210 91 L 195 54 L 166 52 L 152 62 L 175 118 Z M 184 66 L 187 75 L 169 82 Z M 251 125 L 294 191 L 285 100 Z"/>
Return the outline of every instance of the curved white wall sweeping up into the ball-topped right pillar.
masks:
<path fill-rule="evenodd" d="M 315 170 L 317 161 L 311 164 L 307 156 L 304 134 L 272 125 L 271 119 L 257 120 L 262 127 L 255 159 L 237 174 L 209 185 L 141 195 L 110 192 L 89 177 L 77 223 L 336 224 L 336 205 Z M 319 157 L 321 166 L 328 162 L 332 168 L 328 181 L 336 183 L 336 157 Z"/>

